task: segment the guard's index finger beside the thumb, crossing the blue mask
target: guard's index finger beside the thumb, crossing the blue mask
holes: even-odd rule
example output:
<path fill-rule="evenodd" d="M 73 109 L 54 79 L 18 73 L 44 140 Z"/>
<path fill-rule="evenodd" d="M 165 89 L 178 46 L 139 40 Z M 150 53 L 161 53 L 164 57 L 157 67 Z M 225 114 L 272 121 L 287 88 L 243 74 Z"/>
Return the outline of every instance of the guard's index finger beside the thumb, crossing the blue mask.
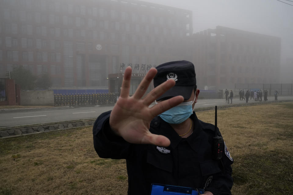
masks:
<path fill-rule="evenodd" d="M 154 118 L 155 116 L 161 114 L 162 112 L 165 112 L 166 110 L 169 110 L 170 108 L 173 108 L 174 106 L 179 105 L 183 101 L 184 101 L 183 96 L 175 96 L 168 100 L 161 101 L 157 105 L 154 105 L 153 107 L 150 108 L 150 113 L 152 115 L 151 117 Z"/>

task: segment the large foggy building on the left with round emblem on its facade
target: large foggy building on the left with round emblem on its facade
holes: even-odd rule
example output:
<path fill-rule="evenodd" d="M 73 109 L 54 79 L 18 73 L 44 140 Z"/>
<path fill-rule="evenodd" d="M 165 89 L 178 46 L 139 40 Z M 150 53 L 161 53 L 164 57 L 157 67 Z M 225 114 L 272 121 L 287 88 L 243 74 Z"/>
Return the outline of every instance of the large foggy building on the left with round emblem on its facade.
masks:
<path fill-rule="evenodd" d="M 192 12 L 137 0 L 0 0 L 0 77 L 22 66 L 53 86 L 192 59 Z M 136 67 L 136 68 L 135 68 Z"/>

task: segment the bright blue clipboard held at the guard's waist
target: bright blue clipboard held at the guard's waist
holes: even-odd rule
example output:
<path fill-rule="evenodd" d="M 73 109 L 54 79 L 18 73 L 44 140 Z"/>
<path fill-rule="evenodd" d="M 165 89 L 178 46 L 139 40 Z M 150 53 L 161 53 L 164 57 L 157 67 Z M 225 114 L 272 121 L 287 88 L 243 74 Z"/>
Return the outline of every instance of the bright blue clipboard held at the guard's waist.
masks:
<path fill-rule="evenodd" d="M 182 186 L 170 186 L 152 183 L 150 195 L 200 195 L 204 189 L 188 188 Z"/>

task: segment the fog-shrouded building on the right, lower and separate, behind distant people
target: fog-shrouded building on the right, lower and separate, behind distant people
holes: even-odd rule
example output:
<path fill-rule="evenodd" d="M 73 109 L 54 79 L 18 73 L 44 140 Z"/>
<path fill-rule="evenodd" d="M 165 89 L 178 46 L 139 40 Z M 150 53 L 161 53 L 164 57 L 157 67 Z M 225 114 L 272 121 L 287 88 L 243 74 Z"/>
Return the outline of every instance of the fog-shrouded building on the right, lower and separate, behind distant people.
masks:
<path fill-rule="evenodd" d="M 217 26 L 194 34 L 193 40 L 193 62 L 201 89 L 280 82 L 279 37 Z"/>

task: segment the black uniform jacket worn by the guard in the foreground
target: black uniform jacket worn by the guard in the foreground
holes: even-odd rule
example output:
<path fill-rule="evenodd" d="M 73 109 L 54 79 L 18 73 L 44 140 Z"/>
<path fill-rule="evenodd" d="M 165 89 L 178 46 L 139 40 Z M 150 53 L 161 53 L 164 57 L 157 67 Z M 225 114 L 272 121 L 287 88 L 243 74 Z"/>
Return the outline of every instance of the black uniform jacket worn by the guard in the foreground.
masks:
<path fill-rule="evenodd" d="M 126 142 L 111 133 L 109 117 L 110 111 L 97 118 L 93 126 L 94 147 L 101 158 L 126 159 L 128 194 L 149 195 L 151 183 L 205 188 L 214 195 L 231 194 L 233 158 L 223 146 L 223 164 L 212 159 L 214 126 L 198 120 L 195 113 L 190 116 L 194 132 L 187 138 L 181 138 L 159 116 L 151 121 L 151 133 L 170 139 L 166 148 Z"/>

